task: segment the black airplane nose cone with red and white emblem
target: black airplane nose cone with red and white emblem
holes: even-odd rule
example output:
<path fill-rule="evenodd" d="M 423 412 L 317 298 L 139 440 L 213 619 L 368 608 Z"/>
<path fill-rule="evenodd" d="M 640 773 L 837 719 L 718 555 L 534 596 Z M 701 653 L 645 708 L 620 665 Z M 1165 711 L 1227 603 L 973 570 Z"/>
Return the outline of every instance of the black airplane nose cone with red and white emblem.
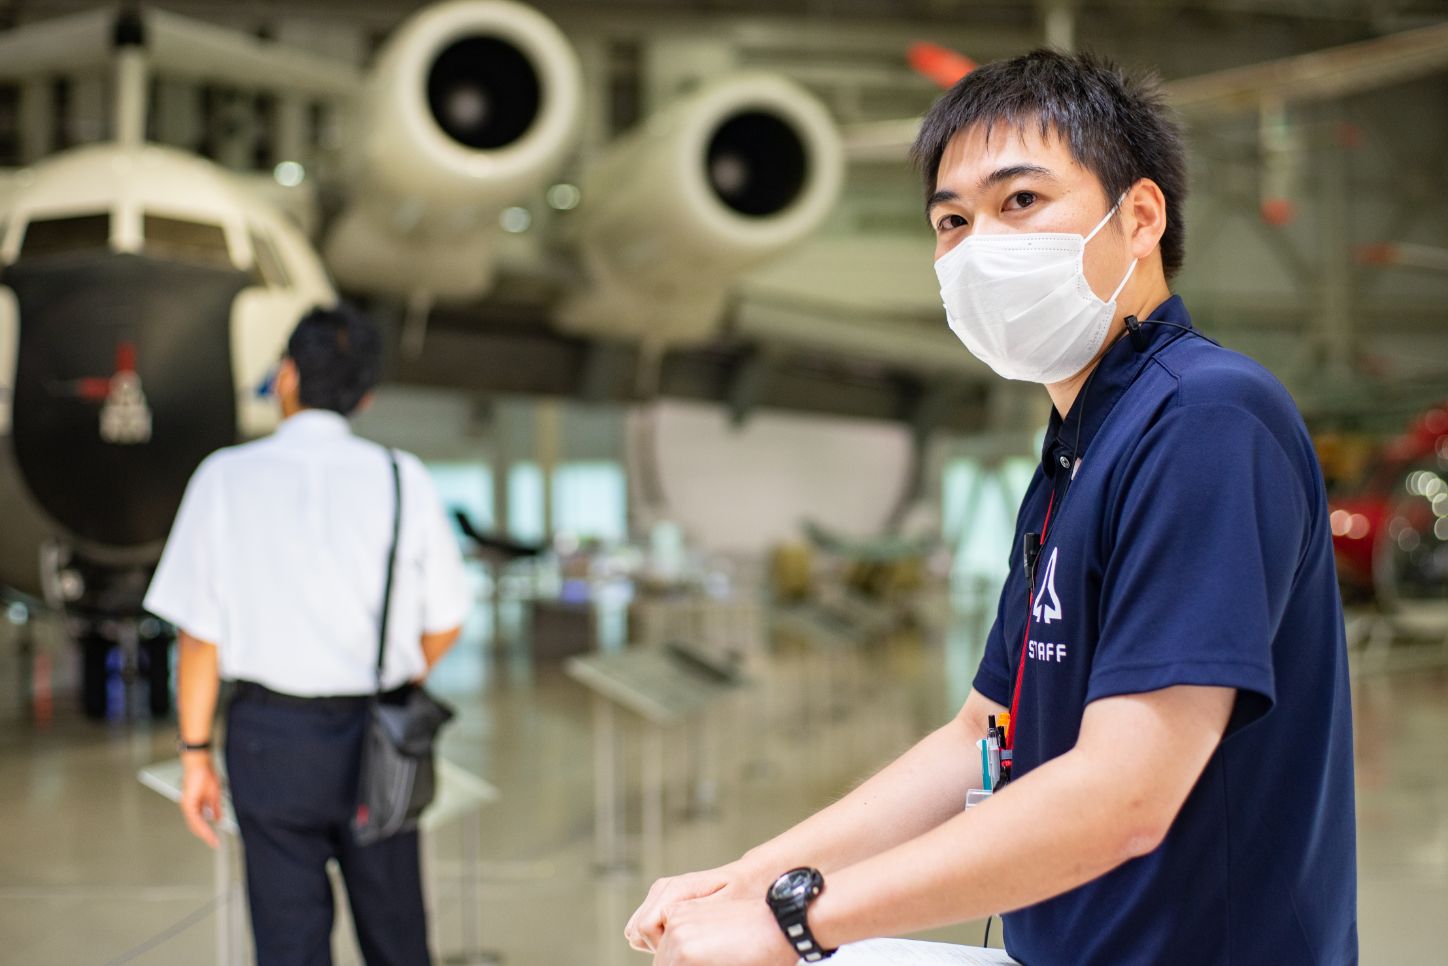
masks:
<path fill-rule="evenodd" d="M 14 455 L 72 536 L 165 539 L 197 463 L 236 442 L 230 317 L 245 272 L 114 252 L 22 259 Z"/>

